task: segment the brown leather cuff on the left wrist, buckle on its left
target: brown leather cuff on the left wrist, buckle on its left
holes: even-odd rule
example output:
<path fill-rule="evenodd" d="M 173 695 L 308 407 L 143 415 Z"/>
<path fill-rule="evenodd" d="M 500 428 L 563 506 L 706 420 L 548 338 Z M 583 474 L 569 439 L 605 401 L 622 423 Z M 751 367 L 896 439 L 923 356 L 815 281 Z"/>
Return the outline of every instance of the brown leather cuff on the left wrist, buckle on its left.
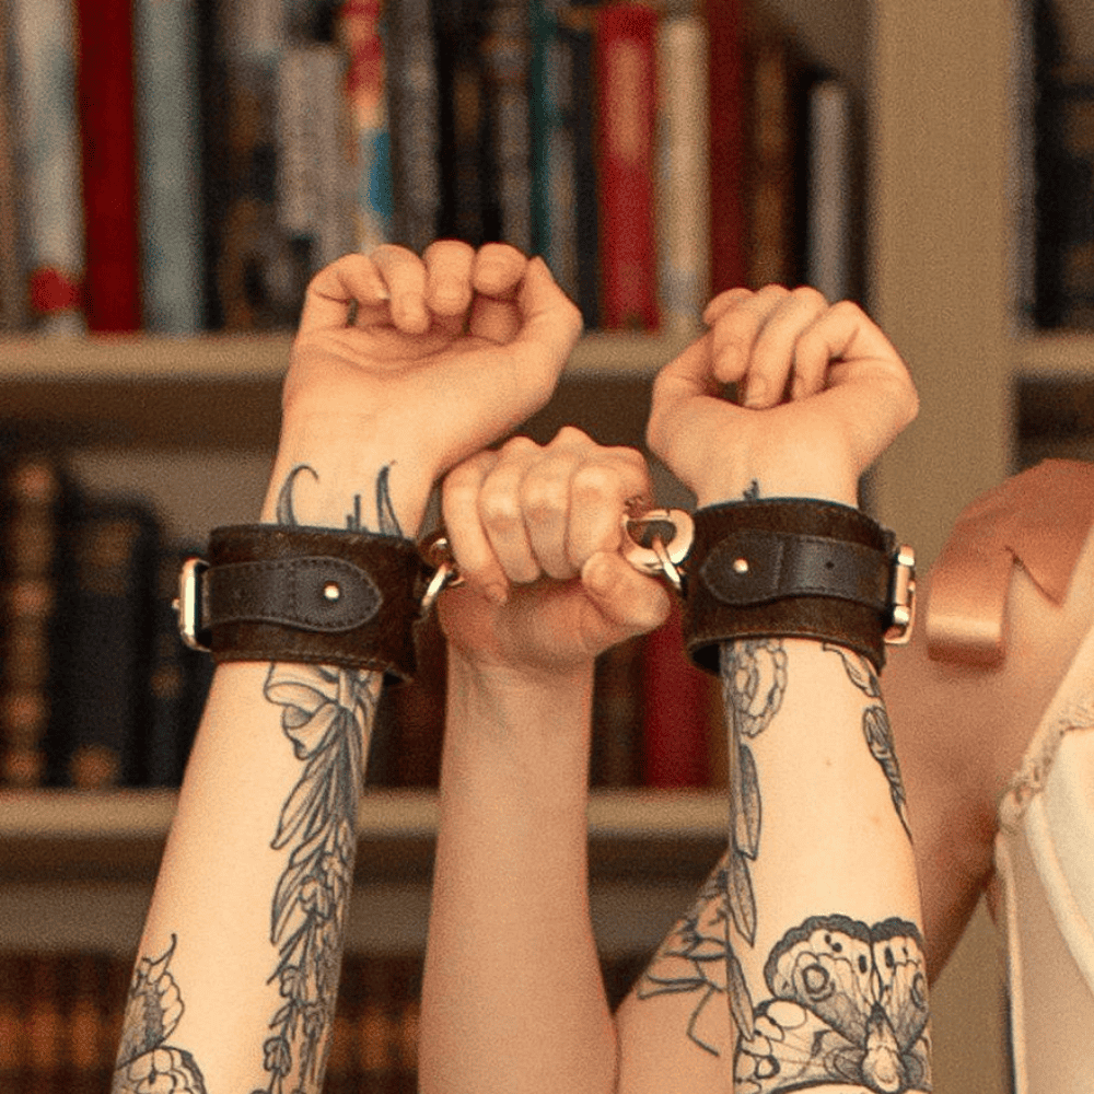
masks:
<path fill-rule="evenodd" d="M 191 620 L 191 644 L 218 663 L 304 662 L 414 677 L 426 570 L 412 540 L 248 524 L 216 528 L 208 554 L 181 622 Z"/>

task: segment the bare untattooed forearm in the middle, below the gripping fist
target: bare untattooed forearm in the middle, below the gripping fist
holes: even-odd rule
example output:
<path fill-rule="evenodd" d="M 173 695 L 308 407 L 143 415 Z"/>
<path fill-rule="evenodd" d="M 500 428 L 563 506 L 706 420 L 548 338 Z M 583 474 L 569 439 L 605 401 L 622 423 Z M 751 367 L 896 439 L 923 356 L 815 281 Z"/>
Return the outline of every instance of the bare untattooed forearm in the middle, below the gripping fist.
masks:
<path fill-rule="evenodd" d="M 508 693 L 476 680 L 450 671 L 421 1089 L 608 1092 L 586 870 L 592 674 Z"/>

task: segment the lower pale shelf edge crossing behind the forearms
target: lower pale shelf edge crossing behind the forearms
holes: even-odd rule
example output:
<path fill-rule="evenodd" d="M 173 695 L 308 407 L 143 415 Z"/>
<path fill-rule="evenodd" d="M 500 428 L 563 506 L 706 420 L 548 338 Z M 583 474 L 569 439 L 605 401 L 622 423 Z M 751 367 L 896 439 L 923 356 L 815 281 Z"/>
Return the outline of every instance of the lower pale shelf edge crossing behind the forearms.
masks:
<path fill-rule="evenodd" d="M 159 839 L 176 802 L 173 790 L 0 791 L 0 839 Z M 431 839 L 438 814 L 431 791 L 370 790 L 361 803 L 361 838 Z M 720 839 L 726 824 L 718 791 L 594 791 L 589 803 L 594 840 Z"/>

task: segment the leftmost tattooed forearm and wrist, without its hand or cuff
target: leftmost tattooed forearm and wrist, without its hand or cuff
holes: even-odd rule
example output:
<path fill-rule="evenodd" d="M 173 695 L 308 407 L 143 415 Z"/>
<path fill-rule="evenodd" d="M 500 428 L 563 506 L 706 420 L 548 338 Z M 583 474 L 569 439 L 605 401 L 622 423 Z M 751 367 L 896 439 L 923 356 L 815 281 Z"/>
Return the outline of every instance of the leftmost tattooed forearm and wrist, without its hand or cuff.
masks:
<path fill-rule="evenodd" d="M 386 464 L 362 491 L 357 467 L 284 456 L 265 523 L 397 523 Z M 129 1012 L 118 1089 L 166 1049 L 208 1090 L 321 1089 L 380 686 L 365 670 L 218 667 L 138 951 L 131 992 L 154 1002 Z"/>

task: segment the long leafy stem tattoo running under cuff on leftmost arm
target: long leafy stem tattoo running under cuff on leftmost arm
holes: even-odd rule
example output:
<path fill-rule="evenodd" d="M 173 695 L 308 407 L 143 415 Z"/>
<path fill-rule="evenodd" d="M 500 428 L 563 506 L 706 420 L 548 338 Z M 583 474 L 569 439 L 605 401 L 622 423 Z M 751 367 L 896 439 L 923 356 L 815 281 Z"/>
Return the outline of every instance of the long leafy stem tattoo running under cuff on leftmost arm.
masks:
<path fill-rule="evenodd" d="M 318 479 L 306 464 L 289 473 L 278 497 L 281 523 L 295 526 L 292 491 L 304 472 Z M 389 467 L 376 478 L 375 505 L 375 531 L 401 535 Z M 360 494 L 346 526 L 370 531 Z M 263 694 L 282 708 L 281 729 L 304 769 L 270 843 L 289 854 L 270 913 L 270 942 L 278 951 L 270 982 L 283 1002 L 263 1045 L 268 1083 L 254 1094 L 295 1094 L 318 1090 L 323 1081 L 353 882 L 358 799 L 381 685 L 379 673 L 325 665 L 272 664 L 266 678 Z"/>

